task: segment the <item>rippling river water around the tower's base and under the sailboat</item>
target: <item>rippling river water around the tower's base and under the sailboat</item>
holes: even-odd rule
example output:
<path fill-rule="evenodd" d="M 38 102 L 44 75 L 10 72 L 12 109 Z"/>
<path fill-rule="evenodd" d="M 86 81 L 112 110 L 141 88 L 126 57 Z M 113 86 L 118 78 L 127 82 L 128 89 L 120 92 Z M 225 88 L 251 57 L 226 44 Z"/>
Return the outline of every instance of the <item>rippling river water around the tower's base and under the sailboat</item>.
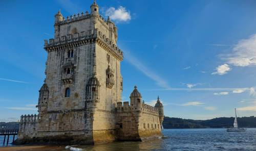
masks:
<path fill-rule="evenodd" d="M 163 134 L 167 138 L 146 142 L 114 142 L 100 145 L 78 145 L 74 147 L 97 151 L 256 150 L 256 129 L 247 129 L 246 132 L 226 132 L 226 129 L 170 129 L 164 130 Z M 0 139 L 0 145 L 3 145 L 2 137 Z M 70 150 L 64 147 L 63 150 Z"/>

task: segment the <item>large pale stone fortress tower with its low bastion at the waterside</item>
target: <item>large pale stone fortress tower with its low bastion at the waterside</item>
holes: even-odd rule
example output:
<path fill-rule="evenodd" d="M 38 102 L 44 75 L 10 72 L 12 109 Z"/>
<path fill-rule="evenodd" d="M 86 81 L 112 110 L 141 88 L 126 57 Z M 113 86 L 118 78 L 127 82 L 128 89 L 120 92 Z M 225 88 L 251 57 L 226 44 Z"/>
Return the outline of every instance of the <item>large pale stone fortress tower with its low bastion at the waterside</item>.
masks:
<path fill-rule="evenodd" d="M 123 79 L 117 28 L 98 13 L 55 15 L 54 39 L 45 40 L 46 79 L 38 115 L 22 115 L 16 143 L 93 144 L 161 136 L 163 105 L 142 102 L 134 87 L 121 102 Z"/>

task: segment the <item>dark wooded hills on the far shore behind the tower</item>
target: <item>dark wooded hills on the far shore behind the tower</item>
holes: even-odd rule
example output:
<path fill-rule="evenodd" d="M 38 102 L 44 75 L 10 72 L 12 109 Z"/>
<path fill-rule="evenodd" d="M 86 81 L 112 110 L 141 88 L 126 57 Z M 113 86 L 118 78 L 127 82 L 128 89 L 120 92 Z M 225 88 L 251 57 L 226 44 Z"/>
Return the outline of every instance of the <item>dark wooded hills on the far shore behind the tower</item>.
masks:
<path fill-rule="evenodd" d="M 203 128 L 229 128 L 233 126 L 234 117 L 219 117 L 207 120 L 183 119 L 164 117 L 164 129 L 203 129 Z M 256 128 L 256 117 L 238 117 L 239 127 Z M 0 122 L 1 129 L 18 129 L 18 122 Z"/>

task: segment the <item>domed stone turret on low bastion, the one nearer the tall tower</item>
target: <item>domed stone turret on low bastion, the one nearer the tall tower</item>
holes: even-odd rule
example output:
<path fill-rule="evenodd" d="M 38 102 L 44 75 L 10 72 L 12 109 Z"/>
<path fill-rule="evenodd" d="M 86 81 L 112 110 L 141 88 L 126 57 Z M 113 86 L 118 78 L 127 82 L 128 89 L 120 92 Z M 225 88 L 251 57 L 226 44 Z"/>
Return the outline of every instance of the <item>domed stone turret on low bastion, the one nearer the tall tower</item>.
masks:
<path fill-rule="evenodd" d="M 140 92 L 137 90 L 137 87 L 134 86 L 134 90 L 130 95 L 130 104 L 131 104 L 132 109 L 140 110 L 140 106 L 142 104 L 141 98 L 142 98 L 142 96 L 141 96 Z"/>

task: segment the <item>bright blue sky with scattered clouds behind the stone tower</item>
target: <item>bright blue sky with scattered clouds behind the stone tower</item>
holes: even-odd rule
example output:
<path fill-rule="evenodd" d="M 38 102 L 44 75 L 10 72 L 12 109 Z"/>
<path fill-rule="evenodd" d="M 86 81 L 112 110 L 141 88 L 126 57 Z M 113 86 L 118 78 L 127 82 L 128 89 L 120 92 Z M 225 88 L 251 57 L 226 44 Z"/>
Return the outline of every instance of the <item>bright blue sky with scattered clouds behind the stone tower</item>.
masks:
<path fill-rule="evenodd" d="M 256 1 L 97 1 L 118 27 L 123 100 L 134 85 L 166 116 L 256 115 Z M 54 15 L 92 1 L 0 1 L 0 121 L 36 113 Z"/>

